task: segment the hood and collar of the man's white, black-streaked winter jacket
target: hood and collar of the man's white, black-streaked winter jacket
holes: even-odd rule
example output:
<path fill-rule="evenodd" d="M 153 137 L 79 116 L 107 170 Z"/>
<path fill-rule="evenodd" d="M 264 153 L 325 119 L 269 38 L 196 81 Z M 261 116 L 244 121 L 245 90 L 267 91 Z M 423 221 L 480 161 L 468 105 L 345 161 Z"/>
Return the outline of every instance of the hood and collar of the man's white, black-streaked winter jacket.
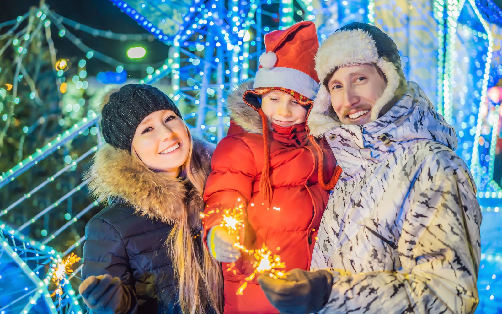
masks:
<path fill-rule="evenodd" d="M 360 167 L 358 158 L 379 162 L 387 156 L 385 153 L 396 151 L 400 143 L 411 140 L 432 140 L 451 150 L 457 148 L 455 129 L 436 112 L 415 82 L 408 82 L 403 97 L 378 120 L 365 125 L 338 122 L 325 136 L 344 171 Z"/>

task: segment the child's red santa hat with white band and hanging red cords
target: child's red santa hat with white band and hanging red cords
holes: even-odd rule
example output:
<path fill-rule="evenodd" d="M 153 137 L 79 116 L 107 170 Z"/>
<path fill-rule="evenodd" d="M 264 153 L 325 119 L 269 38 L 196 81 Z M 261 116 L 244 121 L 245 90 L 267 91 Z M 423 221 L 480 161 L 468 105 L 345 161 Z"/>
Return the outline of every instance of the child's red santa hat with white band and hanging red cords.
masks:
<path fill-rule="evenodd" d="M 260 191 L 264 198 L 270 202 L 272 200 L 272 186 L 269 171 L 269 125 L 267 116 L 263 113 L 261 104 L 257 101 L 257 96 L 271 90 L 281 90 L 291 94 L 303 106 L 308 106 L 307 111 L 310 110 L 312 99 L 319 90 L 320 84 L 314 69 L 314 57 L 319 48 L 315 24 L 311 21 L 304 21 L 296 23 L 286 30 L 268 33 L 265 35 L 265 48 L 266 52 L 260 56 L 260 66 L 253 89 L 245 91 L 242 98 L 248 106 L 255 108 L 262 117 L 265 160 Z M 310 137 L 310 139 L 315 142 L 313 137 Z M 332 187 L 324 184 L 322 179 L 323 156 L 320 149 L 317 151 L 320 152 L 319 182 L 326 189 L 331 189 Z"/>

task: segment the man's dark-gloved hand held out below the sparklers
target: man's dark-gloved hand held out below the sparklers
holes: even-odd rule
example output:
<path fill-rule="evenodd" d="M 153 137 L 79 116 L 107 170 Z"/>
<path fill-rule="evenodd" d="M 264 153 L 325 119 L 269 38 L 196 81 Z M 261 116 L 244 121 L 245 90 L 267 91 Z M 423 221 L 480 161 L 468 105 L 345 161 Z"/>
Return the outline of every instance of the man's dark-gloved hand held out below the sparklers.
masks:
<path fill-rule="evenodd" d="M 326 270 L 306 271 L 293 269 L 286 278 L 274 279 L 268 274 L 258 277 L 258 282 L 269 299 L 281 313 L 313 313 L 328 301 L 333 276 Z"/>

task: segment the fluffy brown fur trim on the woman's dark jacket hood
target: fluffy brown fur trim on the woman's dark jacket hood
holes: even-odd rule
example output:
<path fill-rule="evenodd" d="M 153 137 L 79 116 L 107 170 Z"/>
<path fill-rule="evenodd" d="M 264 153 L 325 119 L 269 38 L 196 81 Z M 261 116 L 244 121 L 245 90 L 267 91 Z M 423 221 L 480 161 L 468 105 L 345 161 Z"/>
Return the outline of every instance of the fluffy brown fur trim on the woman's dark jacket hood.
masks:
<path fill-rule="evenodd" d="M 193 143 L 195 162 L 209 174 L 214 147 L 196 139 Z M 197 190 L 152 171 L 127 151 L 105 144 L 94 155 L 85 177 L 91 179 L 89 190 L 97 198 L 119 197 L 131 204 L 139 215 L 166 223 L 179 221 L 181 211 L 187 208 L 190 226 L 201 225 L 199 213 L 204 202 Z"/>

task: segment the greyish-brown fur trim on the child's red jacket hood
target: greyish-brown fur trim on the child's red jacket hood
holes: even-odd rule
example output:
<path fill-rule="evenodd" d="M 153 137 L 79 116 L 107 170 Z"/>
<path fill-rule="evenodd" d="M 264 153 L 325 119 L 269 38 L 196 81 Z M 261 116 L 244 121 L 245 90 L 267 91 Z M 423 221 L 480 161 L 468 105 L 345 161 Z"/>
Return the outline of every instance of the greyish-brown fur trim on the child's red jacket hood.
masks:
<path fill-rule="evenodd" d="M 248 106 L 242 99 L 246 90 L 253 89 L 253 80 L 249 79 L 240 83 L 231 94 L 228 95 L 226 108 L 230 118 L 244 131 L 254 134 L 263 134 L 262 117 L 253 108 Z M 271 128 L 269 122 L 269 129 Z"/>

